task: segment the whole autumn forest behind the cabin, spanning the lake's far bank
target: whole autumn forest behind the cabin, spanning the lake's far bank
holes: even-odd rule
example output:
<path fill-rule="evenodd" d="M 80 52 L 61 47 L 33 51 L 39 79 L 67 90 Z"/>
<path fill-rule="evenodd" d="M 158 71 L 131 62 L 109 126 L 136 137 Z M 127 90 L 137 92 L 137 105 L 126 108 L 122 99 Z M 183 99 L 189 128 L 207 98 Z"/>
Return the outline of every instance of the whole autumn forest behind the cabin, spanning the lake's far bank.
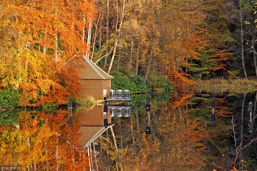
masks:
<path fill-rule="evenodd" d="M 1 0 L 1 86 L 19 91 L 1 94 L 16 107 L 78 97 L 76 53 L 114 76 L 113 89 L 132 93 L 193 84 L 195 71 L 257 76 L 255 8 L 247 0 Z"/>

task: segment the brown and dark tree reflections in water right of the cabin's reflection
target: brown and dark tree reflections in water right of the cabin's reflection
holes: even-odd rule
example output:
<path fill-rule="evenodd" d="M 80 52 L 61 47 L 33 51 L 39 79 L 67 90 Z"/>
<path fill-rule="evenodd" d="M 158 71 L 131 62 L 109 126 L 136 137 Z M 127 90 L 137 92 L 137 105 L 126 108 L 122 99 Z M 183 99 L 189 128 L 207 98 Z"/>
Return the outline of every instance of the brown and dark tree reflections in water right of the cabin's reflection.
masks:
<path fill-rule="evenodd" d="M 97 139 L 103 151 L 99 158 L 102 166 L 100 170 L 230 170 L 234 166 L 242 166 L 242 160 L 248 170 L 256 169 L 256 143 L 242 149 L 237 156 L 235 141 L 231 136 L 233 116 L 237 146 L 241 140 L 244 147 L 256 138 L 256 131 L 252 134 L 248 131 L 249 116 L 246 112 L 249 101 L 255 102 L 255 94 L 194 95 L 189 91 L 175 91 L 172 95 L 160 94 L 158 97 L 161 96 L 164 100 L 159 102 L 146 95 L 133 99 L 135 106 L 130 118 L 113 118 L 113 129 L 120 151 L 115 152 L 110 132 L 109 148 L 106 135 L 103 136 L 105 139 Z M 215 124 L 210 122 L 212 97 L 216 100 Z M 145 101 L 151 104 L 150 137 L 145 136 L 145 127 L 148 125 Z M 256 111 L 253 113 L 256 117 Z M 104 155 L 107 148 L 109 165 L 106 162 L 108 155 Z"/>

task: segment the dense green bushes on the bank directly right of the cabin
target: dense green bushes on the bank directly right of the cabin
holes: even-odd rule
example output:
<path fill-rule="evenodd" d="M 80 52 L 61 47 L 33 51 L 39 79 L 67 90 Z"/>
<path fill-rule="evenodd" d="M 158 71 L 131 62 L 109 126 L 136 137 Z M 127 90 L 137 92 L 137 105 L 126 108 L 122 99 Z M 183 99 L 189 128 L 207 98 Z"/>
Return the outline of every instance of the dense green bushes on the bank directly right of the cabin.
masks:
<path fill-rule="evenodd" d="M 146 84 L 143 83 L 143 79 L 140 75 L 127 76 L 121 72 L 113 71 L 111 72 L 112 79 L 112 89 L 114 90 L 125 90 L 128 89 L 130 93 L 146 93 L 148 88 Z"/>

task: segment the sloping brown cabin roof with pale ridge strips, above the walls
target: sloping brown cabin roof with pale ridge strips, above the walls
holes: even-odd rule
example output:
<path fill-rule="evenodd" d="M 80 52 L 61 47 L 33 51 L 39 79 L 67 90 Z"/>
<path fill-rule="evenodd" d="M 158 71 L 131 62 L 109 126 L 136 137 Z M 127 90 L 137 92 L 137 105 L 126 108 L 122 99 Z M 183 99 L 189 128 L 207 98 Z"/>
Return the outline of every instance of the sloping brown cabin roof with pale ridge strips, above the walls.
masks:
<path fill-rule="evenodd" d="M 81 57 L 81 54 L 76 54 L 76 56 Z M 83 56 L 85 60 L 82 61 L 84 68 L 79 68 L 79 76 L 81 79 L 95 79 L 95 80 L 107 80 L 114 78 L 92 62 L 89 58 Z"/>

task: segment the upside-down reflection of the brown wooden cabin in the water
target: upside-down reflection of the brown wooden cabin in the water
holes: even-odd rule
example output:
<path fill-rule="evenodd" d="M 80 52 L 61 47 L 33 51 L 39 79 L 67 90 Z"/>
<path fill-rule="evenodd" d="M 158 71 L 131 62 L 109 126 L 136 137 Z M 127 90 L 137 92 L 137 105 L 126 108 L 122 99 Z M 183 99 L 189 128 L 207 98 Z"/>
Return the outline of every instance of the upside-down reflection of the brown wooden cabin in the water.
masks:
<path fill-rule="evenodd" d="M 107 115 L 108 127 L 104 127 L 103 106 L 96 106 L 93 109 L 87 111 L 87 109 L 82 110 L 82 115 L 79 118 L 81 120 L 81 127 L 79 133 L 80 145 L 86 148 L 91 144 L 97 137 L 104 133 L 108 128 L 112 127 L 111 116 Z"/>

